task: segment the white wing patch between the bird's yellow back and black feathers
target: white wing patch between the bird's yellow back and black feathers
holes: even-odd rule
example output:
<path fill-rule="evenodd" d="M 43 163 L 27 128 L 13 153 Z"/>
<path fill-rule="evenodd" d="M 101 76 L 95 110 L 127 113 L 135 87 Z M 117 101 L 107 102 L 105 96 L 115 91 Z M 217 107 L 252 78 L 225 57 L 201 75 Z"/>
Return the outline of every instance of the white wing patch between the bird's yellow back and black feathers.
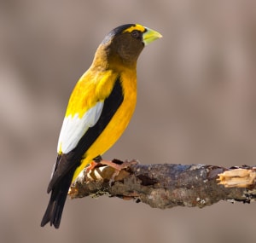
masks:
<path fill-rule="evenodd" d="M 84 113 L 82 118 L 79 118 L 79 113 L 76 113 L 73 117 L 69 115 L 64 119 L 58 142 L 58 153 L 69 153 L 76 148 L 86 130 L 94 126 L 100 118 L 103 104 L 103 101 L 98 101 L 94 107 Z"/>

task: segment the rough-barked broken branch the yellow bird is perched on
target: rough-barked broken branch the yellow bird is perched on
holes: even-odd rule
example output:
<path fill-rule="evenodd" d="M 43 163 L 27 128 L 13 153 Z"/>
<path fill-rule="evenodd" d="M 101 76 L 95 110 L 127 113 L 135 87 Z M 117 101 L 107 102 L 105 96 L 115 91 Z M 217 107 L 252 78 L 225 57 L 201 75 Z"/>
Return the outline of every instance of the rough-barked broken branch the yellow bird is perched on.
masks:
<path fill-rule="evenodd" d="M 113 162 L 123 163 L 117 159 Z M 72 199 L 101 195 L 133 199 L 160 209 L 177 205 L 204 207 L 219 200 L 256 200 L 256 167 L 124 163 L 125 169 L 117 176 L 109 166 L 84 171 L 68 194 Z"/>

